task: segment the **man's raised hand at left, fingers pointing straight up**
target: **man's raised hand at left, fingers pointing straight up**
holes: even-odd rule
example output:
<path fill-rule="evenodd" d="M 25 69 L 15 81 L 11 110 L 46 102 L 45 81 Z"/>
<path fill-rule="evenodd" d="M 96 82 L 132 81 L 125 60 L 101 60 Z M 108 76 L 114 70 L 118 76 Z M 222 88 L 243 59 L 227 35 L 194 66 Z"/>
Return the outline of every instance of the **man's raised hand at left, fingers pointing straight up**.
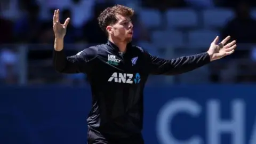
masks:
<path fill-rule="evenodd" d="M 60 10 L 55 10 L 53 15 L 53 31 L 55 38 L 64 38 L 70 18 L 67 18 L 64 24 L 60 23 Z"/>

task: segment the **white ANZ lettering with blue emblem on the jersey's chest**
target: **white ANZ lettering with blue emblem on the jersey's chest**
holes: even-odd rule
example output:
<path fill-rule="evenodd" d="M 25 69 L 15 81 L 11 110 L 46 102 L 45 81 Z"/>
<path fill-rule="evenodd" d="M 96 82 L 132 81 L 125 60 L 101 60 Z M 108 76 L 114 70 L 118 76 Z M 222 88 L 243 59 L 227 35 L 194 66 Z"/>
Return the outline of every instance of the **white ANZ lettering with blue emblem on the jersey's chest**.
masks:
<path fill-rule="evenodd" d="M 111 77 L 109 77 L 108 82 L 113 81 L 115 83 L 138 84 L 140 83 L 140 74 L 137 73 L 134 76 L 133 74 L 113 73 Z"/>

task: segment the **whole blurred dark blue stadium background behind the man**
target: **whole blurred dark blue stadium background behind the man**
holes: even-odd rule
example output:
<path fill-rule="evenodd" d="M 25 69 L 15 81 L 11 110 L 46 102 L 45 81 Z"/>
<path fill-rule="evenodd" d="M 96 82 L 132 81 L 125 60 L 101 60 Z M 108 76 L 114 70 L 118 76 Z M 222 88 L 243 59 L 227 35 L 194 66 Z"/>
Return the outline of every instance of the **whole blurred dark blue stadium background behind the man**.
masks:
<path fill-rule="evenodd" d="M 149 78 L 147 144 L 256 143 L 256 1 L 1 0 L 1 144 L 86 143 L 90 86 L 84 74 L 53 69 L 53 11 L 71 18 L 65 51 L 73 55 L 107 42 L 97 17 L 114 4 L 135 10 L 133 42 L 162 58 L 205 52 L 217 35 L 238 43 L 210 65 Z"/>

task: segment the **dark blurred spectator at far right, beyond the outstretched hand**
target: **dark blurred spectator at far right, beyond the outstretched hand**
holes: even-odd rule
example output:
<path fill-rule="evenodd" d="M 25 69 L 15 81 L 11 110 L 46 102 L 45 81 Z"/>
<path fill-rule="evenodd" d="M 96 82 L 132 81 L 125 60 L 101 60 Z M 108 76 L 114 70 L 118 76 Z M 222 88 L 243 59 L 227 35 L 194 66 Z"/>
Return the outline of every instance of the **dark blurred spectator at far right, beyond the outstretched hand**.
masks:
<path fill-rule="evenodd" d="M 237 50 L 233 55 L 230 55 L 230 57 L 225 59 L 239 59 L 241 62 L 238 63 L 238 61 L 236 61 L 237 70 L 239 70 L 239 73 L 236 75 L 238 77 L 233 76 L 233 79 L 239 83 L 249 82 L 253 81 L 253 78 L 250 78 L 251 76 L 249 76 L 247 73 L 248 69 L 251 67 L 251 63 L 249 61 L 251 47 L 246 44 L 256 43 L 256 29 L 254 28 L 256 21 L 251 18 L 250 4 L 245 1 L 238 3 L 238 5 L 235 7 L 235 12 L 236 17 L 233 20 L 230 20 L 223 28 L 221 37 L 224 38 L 230 35 L 232 38 L 231 41 L 236 40 L 241 46 L 237 47 Z M 226 61 L 226 63 L 228 67 L 230 61 Z M 227 71 L 230 70 L 227 69 Z"/>

